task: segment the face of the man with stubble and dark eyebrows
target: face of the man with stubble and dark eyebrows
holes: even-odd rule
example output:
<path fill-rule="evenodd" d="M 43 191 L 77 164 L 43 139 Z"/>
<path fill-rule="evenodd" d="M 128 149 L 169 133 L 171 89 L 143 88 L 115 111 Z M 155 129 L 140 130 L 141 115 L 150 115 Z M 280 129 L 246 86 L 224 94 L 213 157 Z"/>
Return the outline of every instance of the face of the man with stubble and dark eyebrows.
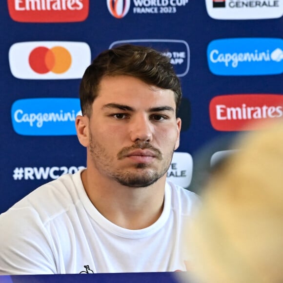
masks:
<path fill-rule="evenodd" d="M 173 91 L 115 76 L 101 80 L 88 127 L 92 167 L 122 185 L 145 187 L 167 172 L 181 120 Z"/>

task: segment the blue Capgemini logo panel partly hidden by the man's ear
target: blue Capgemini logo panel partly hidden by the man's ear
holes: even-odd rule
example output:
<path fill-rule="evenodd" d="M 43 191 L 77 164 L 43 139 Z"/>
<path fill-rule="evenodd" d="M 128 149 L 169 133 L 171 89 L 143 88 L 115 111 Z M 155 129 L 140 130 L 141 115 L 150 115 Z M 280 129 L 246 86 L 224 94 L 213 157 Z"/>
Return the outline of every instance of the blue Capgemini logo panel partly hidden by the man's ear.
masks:
<path fill-rule="evenodd" d="M 13 128 L 25 136 L 76 135 L 75 120 L 80 114 L 77 98 L 21 99 L 11 108 Z"/>

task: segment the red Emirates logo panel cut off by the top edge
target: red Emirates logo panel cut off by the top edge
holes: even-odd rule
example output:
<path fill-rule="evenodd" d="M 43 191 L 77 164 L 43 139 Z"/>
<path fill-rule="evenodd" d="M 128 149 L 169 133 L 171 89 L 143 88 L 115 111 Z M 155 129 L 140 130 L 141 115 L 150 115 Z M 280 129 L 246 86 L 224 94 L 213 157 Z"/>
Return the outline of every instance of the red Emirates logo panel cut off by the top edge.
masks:
<path fill-rule="evenodd" d="M 8 0 L 8 10 L 19 22 L 76 22 L 87 18 L 89 0 Z"/>

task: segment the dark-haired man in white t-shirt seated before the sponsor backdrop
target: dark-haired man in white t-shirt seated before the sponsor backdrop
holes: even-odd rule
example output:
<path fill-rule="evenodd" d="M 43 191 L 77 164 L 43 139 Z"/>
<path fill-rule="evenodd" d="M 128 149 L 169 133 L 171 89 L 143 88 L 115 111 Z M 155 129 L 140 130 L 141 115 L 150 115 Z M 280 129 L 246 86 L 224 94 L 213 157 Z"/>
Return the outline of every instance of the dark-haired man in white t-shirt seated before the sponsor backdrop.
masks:
<path fill-rule="evenodd" d="M 80 87 L 87 166 L 0 215 L 0 274 L 186 270 L 182 230 L 197 197 L 166 182 L 181 87 L 147 47 L 102 52 Z"/>

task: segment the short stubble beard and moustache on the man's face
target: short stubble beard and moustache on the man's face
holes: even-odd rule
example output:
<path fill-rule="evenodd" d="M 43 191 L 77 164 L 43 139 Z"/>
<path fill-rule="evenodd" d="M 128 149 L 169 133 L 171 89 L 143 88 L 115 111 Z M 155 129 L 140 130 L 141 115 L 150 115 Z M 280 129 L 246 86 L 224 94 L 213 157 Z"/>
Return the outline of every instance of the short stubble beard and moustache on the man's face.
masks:
<path fill-rule="evenodd" d="M 157 157 L 162 163 L 162 168 L 160 170 L 150 169 L 149 164 L 136 163 L 134 172 L 123 169 L 115 169 L 112 167 L 112 162 L 116 161 L 113 157 L 107 155 L 105 148 L 97 141 L 93 139 L 90 135 L 89 148 L 92 161 L 95 163 L 95 167 L 103 174 L 108 175 L 110 178 L 127 187 L 148 187 L 153 183 L 157 182 L 161 177 L 163 177 L 169 169 L 172 161 L 174 148 L 170 155 L 165 159 L 162 157 L 162 153 L 152 147 L 146 142 L 136 142 L 133 146 L 129 148 L 123 148 L 118 154 L 117 159 L 123 159 L 123 152 L 128 150 L 133 150 L 136 148 L 150 148 L 157 153 Z M 147 169 L 148 168 L 148 169 Z"/>

